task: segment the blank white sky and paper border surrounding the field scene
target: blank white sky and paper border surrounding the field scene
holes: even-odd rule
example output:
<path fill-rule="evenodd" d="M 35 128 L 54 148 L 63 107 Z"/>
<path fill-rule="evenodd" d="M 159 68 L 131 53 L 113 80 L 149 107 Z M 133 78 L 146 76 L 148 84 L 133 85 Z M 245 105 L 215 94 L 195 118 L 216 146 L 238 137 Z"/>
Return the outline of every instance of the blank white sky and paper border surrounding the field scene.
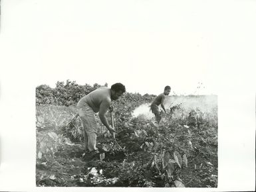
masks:
<path fill-rule="evenodd" d="M 217 95 L 219 181 L 210 191 L 252 191 L 255 23 L 253 0 L 1 0 L 0 190 L 51 190 L 35 189 L 35 87 L 70 79 Z"/>

